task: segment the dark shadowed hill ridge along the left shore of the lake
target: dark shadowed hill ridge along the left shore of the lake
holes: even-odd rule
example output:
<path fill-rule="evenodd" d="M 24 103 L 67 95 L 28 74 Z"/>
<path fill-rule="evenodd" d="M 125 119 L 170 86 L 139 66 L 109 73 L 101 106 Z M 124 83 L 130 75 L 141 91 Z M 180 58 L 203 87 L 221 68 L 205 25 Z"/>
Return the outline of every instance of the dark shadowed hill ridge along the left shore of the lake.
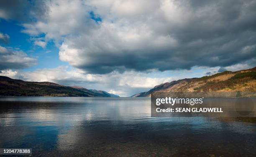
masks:
<path fill-rule="evenodd" d="M 0 96 L 119 97 L 105 91 L 94 92 L 52 82 L 27 82 L 5 76 L 0 76 Z"/>

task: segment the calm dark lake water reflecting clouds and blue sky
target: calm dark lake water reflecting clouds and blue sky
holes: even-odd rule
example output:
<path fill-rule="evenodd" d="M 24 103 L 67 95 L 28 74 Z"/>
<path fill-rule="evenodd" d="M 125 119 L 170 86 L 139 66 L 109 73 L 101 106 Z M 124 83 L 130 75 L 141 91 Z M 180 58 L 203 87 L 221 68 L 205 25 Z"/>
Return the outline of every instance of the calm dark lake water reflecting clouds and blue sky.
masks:
<path fill-rule="evenodd" d="M 255 118 L 151 117 L 149 98 L 2 97 L 0 133 L 41 157 L 256 156 Z"/>

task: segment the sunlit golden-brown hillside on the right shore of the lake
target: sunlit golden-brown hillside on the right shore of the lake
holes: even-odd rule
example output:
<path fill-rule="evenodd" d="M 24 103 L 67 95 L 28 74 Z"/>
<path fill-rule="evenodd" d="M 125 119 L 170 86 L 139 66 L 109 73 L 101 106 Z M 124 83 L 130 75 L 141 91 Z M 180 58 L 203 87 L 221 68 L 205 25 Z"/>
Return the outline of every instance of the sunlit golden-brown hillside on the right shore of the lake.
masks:
<path fill-rule="evenodd" d="M 236 92 L 256 91 L 256 67 L 236 72 L 225 71 L 211 76 L 182 79 L 157 85 L 131 97 L 150 97 L 152 92 Z"/>

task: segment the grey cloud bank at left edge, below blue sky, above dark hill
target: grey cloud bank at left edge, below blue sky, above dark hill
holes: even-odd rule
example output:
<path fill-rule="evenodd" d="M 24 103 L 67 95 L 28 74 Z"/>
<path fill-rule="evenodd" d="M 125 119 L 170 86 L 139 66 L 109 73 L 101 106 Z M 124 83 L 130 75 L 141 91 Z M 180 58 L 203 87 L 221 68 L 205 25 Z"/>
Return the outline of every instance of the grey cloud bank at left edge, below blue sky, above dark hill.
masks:
<path fill-rule="evenodd" d="M 0 46 L 0 70 L 23 69 L 36 65 L 36 61 L 35 58 L 28 57 L 23 51 Z"/>

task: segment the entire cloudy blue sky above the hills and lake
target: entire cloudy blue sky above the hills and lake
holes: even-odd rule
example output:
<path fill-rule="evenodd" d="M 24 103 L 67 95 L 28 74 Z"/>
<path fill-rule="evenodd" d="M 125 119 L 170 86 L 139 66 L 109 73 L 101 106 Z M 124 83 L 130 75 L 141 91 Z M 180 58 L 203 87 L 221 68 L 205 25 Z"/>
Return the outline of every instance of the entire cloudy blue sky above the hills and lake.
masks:
<path fill-rule="evenodd" d="M 0 75 L 127 97 L 256 66 L 256 0 L 1 0 Z"/>

